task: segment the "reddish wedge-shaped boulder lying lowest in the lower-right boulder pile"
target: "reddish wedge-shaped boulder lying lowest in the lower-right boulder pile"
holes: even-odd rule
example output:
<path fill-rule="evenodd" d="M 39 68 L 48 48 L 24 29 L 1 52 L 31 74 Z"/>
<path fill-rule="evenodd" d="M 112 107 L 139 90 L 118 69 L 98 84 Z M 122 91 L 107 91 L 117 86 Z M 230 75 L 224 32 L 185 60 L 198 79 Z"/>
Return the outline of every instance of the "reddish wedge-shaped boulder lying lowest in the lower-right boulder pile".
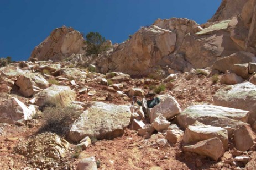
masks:
<path fill-rule="evenodd" d="M 195 145 L 182 147 L 184 151 L 194 152 L 199 155 L 205 155 L 217 161 L 224 154 L 224 148 L 222 141 L 217 137 L 203 140 Z"/>

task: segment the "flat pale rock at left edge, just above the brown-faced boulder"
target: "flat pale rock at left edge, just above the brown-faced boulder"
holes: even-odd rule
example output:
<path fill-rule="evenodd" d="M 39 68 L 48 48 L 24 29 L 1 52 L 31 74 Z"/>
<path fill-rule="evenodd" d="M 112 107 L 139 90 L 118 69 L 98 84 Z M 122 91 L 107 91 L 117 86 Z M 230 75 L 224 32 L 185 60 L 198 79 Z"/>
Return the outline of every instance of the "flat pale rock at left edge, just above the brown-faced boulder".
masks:
<path fill-rule="evenodd" d="M 15 66 L 1 67 L 0 71 L 8 79 L 17 78 L 18 76 L 27 73 L 27 72 L 24 72 L 23 70 L 19 69 L 18 67 L 15 67 Z"/>

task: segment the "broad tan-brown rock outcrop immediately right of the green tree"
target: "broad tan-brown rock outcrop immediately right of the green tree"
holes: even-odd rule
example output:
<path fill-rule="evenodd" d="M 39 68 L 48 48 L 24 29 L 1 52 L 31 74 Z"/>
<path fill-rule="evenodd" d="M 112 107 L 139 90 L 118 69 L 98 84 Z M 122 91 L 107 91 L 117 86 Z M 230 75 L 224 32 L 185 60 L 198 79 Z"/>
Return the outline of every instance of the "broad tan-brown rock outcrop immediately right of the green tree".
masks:
<path fill-rule="evenodd" d="M 101 72 L 122 71 L 129 75 L 145 75 L 163 57 L 174 51 L 176 34 L 156 25 L 141 28 L 132 38 L 102 56 L 97 65 Z M 126 62 L 123 62 L 126 61 Z"/>

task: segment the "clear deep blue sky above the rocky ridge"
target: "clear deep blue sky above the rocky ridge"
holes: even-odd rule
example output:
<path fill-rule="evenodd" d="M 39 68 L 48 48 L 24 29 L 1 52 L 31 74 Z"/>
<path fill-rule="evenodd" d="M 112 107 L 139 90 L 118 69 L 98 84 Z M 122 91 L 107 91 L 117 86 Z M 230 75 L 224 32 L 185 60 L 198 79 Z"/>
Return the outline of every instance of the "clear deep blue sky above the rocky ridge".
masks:
<path fill-rule="evenodd" d="M 221 0 L 0 0 L 0 57 L 27 60 L 53 29 L 62 25 L 100 32 L 121 43 L 158 18 L 182 17 L 205 23 Z"/>

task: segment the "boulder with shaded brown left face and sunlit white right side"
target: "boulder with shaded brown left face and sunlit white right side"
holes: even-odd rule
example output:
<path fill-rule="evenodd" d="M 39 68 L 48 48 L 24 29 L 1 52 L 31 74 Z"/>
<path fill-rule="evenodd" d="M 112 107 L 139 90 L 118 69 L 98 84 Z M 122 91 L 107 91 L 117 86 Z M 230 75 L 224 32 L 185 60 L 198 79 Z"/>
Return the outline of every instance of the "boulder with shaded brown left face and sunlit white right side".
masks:
<path fill-rule="evenodd" d="M 18 77 L 15 84 L 19 87 L 20 93 L 25 97 L 30 97 L 40 89 L 49 87 L 48 81 L 39 73 L 23 74 Z"/>

